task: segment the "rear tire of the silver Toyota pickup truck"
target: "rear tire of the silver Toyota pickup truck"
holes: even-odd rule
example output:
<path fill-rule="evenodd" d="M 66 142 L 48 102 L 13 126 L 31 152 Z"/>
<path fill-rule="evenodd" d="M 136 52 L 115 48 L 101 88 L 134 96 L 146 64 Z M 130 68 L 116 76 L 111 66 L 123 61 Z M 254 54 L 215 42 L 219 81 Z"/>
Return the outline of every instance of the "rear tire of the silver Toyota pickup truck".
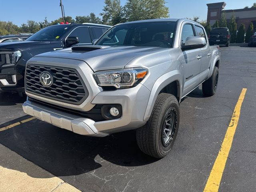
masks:
<path fill-rule="evenodd" d="M 218 86 L 218 80 L 219 80 L 219 70 L 218 70 L 218 67 L 215 66 L 212 76 L 202 84 L 202 90 L 204 95 L 213 96 L 215 94 Z"/>

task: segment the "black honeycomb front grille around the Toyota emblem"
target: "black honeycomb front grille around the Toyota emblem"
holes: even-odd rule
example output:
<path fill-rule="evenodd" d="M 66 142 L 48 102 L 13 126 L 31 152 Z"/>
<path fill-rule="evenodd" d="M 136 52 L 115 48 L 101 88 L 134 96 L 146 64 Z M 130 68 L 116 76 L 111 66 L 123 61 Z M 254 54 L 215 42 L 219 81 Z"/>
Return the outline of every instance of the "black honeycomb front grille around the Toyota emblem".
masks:
<path fill-rule="evenodd" d="M 50 87 L 41 84 L 42 72 L 52 75 L 53 83 Z M 28 64 L 25 79 L 26 91 L 38 96 L 76 105 L 88 97 L 88 90 L 75 69 Z"/>

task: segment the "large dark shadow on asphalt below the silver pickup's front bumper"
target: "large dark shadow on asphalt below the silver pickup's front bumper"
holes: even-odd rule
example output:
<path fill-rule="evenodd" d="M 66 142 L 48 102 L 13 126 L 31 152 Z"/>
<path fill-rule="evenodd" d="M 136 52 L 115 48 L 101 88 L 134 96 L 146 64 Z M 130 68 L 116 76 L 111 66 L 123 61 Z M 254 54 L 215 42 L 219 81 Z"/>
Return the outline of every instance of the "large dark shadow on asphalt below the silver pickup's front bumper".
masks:
<path fill-rule="evenodd" d="M 16 122 L 19 121 L 20 118 L 16 119 Z M 104 138 L 87 137 L 40 120 L 1 131 L 0 143 L 55 176 L 83 174 L 100 168 L 102 161 L 119 166 L 141 166 L 158 160 L 139 150 L 134 131 Z M 12 169 L 6 164 L 2 165 L 1 161 L 0 166 Z M 30 176 L 40 178 L 40 175 L 29 170 L 19 171 L 28 175 L 33 173 Z"/>

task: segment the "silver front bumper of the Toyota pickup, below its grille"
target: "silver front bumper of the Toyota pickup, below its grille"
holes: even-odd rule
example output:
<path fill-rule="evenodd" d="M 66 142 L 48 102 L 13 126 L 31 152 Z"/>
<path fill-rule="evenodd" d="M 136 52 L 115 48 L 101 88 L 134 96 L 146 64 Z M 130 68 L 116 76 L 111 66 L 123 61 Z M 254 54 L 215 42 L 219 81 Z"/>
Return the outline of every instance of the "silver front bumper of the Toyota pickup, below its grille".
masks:
<path fill-rule="evenodd" d="M 98 93 L 92 100 L 92 104 L 120 104 L 122 106 L 120 118 L 100 122 L 53 109 L 30 100 L 23 104 L 23 110 L 26 114 L 74 133 L 104 137 L 114 132 L 132 130 L 146 124 L 143 118 L 149 96 L 150 91 L 142 84 L 130 89 Z"/>

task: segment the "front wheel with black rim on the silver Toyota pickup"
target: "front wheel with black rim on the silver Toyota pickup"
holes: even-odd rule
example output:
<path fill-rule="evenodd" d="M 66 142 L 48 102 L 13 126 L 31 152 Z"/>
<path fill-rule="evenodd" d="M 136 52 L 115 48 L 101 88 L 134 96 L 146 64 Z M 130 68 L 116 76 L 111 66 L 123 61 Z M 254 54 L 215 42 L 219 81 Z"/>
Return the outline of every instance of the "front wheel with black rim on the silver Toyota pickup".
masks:
<path fill-rule="evenodd" d="M 147 124 L 136 130 L 142 152 L 163 158 L 172 149 L 180 122 L 179 104 L 172 94 L 158 95 Z"/>

